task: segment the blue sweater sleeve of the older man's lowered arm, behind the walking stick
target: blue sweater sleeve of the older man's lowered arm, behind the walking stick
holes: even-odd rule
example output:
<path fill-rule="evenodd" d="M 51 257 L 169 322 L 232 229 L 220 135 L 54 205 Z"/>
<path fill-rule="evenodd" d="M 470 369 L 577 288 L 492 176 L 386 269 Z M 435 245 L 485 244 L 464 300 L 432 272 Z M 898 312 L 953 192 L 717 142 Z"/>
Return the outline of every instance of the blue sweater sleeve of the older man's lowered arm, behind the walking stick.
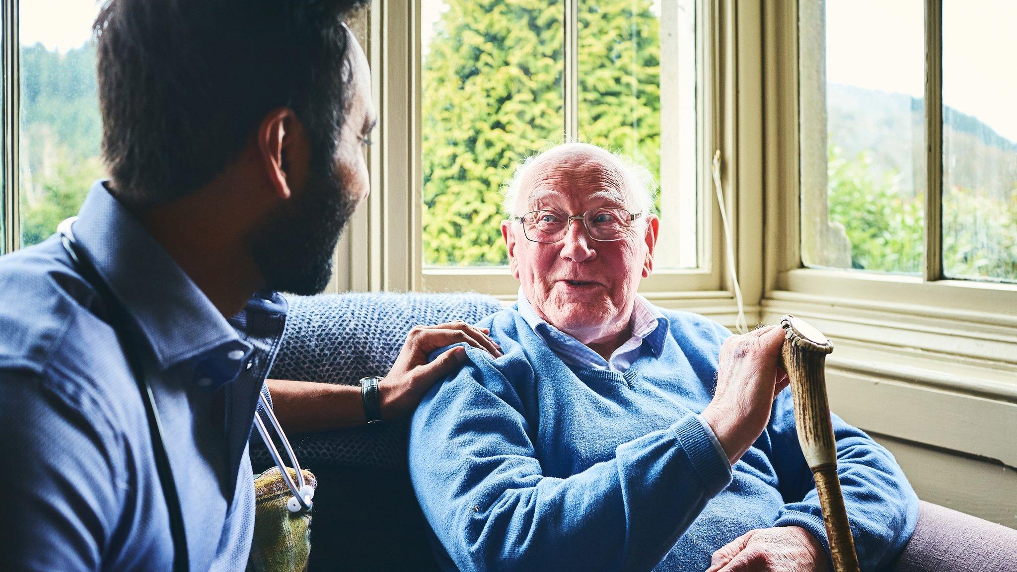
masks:
<path fill-rule="evenodd" d="M 893 455 L 861 430 L 833 415 L 837 474 L 862 570 L 886 566 L 907 542 L 918 520 L 918 497 Z M 813 473 L 801 454 L 790 389 L 781 392 L 770 422 L 774 468 L 787 504 L 775 526 L 801 526 L 829 553 Z"/>

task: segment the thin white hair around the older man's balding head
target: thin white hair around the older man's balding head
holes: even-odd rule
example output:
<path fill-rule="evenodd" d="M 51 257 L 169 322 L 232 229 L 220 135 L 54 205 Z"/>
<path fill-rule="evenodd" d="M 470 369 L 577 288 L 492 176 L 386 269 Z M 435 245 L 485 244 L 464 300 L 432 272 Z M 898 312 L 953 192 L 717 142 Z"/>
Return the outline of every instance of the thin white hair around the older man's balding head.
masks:
<path fill-rule="evenodd" d="M 523 181 L 527 179 L 527 175 L 533 170 L 534 166 L 540 164 L 541 158 L 552 151 L 562 152 L 571 149 L 574 149 L 576 152 L 600 152 L 610 156 L 611 161 L 614 163 L 612 166 L 618 170 L 621 174 L 621 180 L 624 181 L 625 188 L 619 190 L 629 194 L 633 202 L 633 212 L 646 214 L 653 210 L 653 198 L 657 193 L 657 182 L 654 180 L 653 175 L 650 174 L 649 169 L 629 157 L 610 150 L 590 144 L 570 141 L 544 149 L 536 155 L 531 155 L 516 167 L 516 172 L 513 173 L 512 179 L 501 185 L 501 192 L 504 195 L 501 208 L 504 210 L 506 216 L 515 217 L 521 215 L 521 213 L 516 213 L 516 199 L 519 197 Z"/>

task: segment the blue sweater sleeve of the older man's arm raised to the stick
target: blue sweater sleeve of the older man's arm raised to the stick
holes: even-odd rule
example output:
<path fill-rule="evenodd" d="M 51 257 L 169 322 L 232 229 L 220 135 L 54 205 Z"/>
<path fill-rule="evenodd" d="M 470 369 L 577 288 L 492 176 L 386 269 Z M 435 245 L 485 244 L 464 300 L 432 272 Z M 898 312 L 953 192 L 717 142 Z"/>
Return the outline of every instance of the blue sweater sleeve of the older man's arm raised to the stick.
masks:
<path fill-rule="evenodd" d="M 468 570 L 649 570 L 674 546 L 730 466 L 690 414 L 619 446 L 615 458 L 555 478 L 533 446 L 536 417 L 484 352 L 431 389 L 410 432 L 424 515 Z"/>

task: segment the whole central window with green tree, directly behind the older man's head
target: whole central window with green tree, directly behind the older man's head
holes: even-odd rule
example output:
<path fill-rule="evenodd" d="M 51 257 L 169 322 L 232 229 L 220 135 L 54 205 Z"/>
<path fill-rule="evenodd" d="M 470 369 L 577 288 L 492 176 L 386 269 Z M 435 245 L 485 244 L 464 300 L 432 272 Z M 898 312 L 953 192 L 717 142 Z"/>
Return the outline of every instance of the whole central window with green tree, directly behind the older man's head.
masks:
<path fill-rule="evenodd" d="M 700 266 L 696 12 L 694 0 L 422 0 L 424 268 L 505 265 L 499 187 L 562 138 L 648 167 L 658 268 Z"/>

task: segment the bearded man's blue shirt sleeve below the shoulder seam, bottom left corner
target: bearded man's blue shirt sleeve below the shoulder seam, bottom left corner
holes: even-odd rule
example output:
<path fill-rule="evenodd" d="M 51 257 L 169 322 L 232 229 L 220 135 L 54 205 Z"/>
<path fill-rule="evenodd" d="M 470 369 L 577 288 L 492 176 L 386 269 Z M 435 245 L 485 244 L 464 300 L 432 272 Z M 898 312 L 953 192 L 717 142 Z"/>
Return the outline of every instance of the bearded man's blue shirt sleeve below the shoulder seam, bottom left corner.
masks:
<path fill-rule="evenodd" d="M 126 488 L 108 423 L 36 374 L 0 370 L 4 569 L 99 570 Z M 118 473 L 119 472 L 119 473 Z"/>

